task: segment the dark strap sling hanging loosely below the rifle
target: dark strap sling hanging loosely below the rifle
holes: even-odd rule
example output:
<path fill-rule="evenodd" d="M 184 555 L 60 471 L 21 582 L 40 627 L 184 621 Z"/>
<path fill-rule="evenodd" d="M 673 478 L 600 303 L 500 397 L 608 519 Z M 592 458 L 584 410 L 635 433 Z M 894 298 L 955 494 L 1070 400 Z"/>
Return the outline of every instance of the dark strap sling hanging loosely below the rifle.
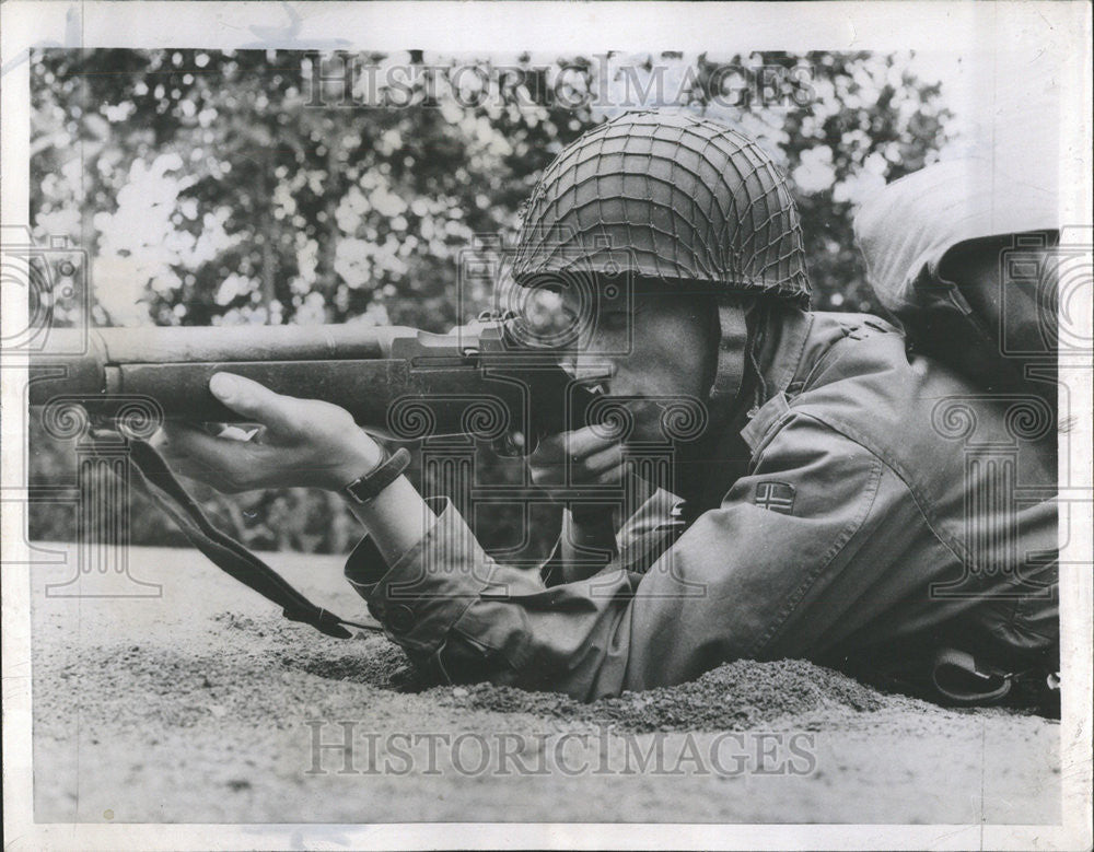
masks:
<path fill-rule="evenodd" d="M 213 564 L 277 604 L 286 618 L 311 625 L 319 632 L 338 639 L 352 635 L 346 626 L 362 630 L 381 629 L 379 626 L 347 621 L 313 604 L 246 547 L 213 526 L 153 446 L 135 440 L 130 447 L 129 458 L 138 489 L 151 498 Z"/>

